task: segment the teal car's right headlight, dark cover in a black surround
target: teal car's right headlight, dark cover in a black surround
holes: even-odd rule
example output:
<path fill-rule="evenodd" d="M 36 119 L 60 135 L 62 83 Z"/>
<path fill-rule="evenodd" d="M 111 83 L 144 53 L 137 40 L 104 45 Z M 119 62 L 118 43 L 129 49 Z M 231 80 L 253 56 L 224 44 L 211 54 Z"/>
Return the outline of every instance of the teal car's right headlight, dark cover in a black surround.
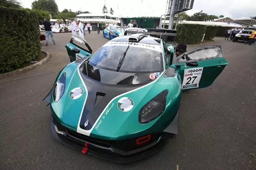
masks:
<path fill-rule="evenodd" d="M 163 113 L 167 94 L 168 90 L 164 90 L 140 109 L 139 122 L 141 124 L 148 123 Z"/>

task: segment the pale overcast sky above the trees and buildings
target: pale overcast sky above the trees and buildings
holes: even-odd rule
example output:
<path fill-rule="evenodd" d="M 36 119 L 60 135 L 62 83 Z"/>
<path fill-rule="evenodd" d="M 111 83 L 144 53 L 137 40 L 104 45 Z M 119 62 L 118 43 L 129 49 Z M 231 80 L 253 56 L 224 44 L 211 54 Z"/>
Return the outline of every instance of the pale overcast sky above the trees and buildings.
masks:
<path fill-rule="evenodd" d="M 34 0 L 18 0 L 24 8 L 31 8 Z M 165 13 L 166 0 L 55 0 L 59 11 L 89 11 L 101 13 L 106 1 L 108 10 L 113 8 L 114 15 L 123 17 L 154 16 L 160 17 Z M 193 9 L 187 11 L 192 15 L 195 12 L 214 15 L 224 15 L 233 19 L 239 17 L 256 16 L 255 0 L 195 0 Z"/>

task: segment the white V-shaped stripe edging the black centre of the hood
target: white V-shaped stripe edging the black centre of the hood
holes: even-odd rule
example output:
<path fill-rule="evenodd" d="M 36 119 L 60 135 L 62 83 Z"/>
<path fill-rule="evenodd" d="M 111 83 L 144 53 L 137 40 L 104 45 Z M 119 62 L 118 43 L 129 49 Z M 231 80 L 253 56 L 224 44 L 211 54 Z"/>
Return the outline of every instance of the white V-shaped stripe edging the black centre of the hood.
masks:
<path fill-rule="evenodd" d="M 82 63 L 81 63 L 81 64 L 82 64 Z M 81 129 L 81 128 L 80 128 L 80 121 L 81 121 L 81 117 L 82 117 L 82 114 L 83 114 L 83 111 L 84 111 L 84 106 L 85 106 L 85 103 L 86 103 L 86 100 L 87 100 L 88 90 L 87 90 L 87 87 L 86 87 L 86 85 L 84 84 L 84 81 L 83 81 L 83 79 L 82 79 L 82 77 L 81 77 L 81 74 L 80 74 L 80 72 L 79 72 L 79 67 L 81 66 L 81 64 L 78 66 L 77 72 L 78 72 L 78 74 L 79 74 L 79 77 L 80 77 L 80 79 L 81 79 L 83 85 L 84 85 L 84 89 L 85 89 L 85 91 L 86 91 L 86 97 L 85 97 L 85 100 L 84 100 L 83 108 L 82 108 L 82 110 L 81 110 L 81 114 L 80 114 L 80 118 L 79 118 L 79 122 L 78 122 L 78 125 L 77 125 L 76 132 L 77 132 L 77 133 L 81 133 L 81 134 L 83 134 L 83 135 L 87 135 L 87 136 L 90 136 L 90 133 L 92 132 L 92 130 L 94 129 L 94 127 L 95 127 L 96 124 L 98 123 L 99 119 L 102 117 L 102 114 L 105 112 L 105 110 L 108 108 L 108 106 L 112 103 L 112 101 L 114 101 L 116 98 L 119 98 L 119 97 L 122 96 L 122 95 L 126 95 L 126 94 L 128 94 L 128 93 L 137 91 L 137 90 L 142 89 L 142 88 L 144 88 L 144 87 L 146 87 L 146 86 L 149 86 L 150 84 L 155 83 L 155 82 L 165 73 L 165 70 L 164 70 L 154 81 L 152 81 L 152 82 L 150 82 L 150 83 L 148 83 L 148 84 L 146 84 L 146 85 L 144 85 L 144 86 L 138 87 L 137 89 L 133 89 L 133 90 L 131 90 L 131 91 L 122 93 L 122 94 L 117 95 L 116 97 L 114 97 L 114 98 L 106 105 L 106 107 L 103 109 L 103 111 L 101 112 L 101 114 L 99 115 L 99 117 L 97 118 L 97 120 L 95 121 L 95 123 L 93 124 L 93 126 L 90 128 L 90 130 L 84 130 L 84 129 Z"/>

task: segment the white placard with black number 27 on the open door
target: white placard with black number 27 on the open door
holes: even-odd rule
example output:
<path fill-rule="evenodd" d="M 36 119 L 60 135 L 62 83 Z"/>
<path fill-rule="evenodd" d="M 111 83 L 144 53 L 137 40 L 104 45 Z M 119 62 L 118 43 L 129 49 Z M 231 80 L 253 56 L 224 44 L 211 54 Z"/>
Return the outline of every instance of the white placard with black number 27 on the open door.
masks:
<path fill-rule="evenodd" d="M 198 88 L 204 67 L 185 69 L 182 89 Z"/>

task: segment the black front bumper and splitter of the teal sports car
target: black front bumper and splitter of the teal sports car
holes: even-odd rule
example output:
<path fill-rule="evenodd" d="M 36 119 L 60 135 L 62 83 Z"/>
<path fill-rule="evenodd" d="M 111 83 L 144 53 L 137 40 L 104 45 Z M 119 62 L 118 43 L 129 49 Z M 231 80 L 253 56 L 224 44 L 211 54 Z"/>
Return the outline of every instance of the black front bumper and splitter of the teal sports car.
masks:
<path fill-rule="evenodd" d="M 113 146 L 111 141 L 84 136 L 63 127 L 55 121 L 53 115 L 50 118 L 50 130 L 57 141 L 60 141 L 73 149 L 79 150 L 83 153 L 83 150 L 86 147 L 86 153 L 90 155 L 119 163 L 129 163 L 151 156 L 164 146 L 165 138 L 172 138 L 169 134 L 163 133 L 156 136 L 156 140 L 149 144 L 144 144 L 142 147 L 133 150 L 121 150 L 120 148 Z M 125 143 L 125 140 L 118 141 L 116 143 L 118 143 L 118 145 L 125 145 L 126 148 L 130 145 L 129 142 Z"/>

